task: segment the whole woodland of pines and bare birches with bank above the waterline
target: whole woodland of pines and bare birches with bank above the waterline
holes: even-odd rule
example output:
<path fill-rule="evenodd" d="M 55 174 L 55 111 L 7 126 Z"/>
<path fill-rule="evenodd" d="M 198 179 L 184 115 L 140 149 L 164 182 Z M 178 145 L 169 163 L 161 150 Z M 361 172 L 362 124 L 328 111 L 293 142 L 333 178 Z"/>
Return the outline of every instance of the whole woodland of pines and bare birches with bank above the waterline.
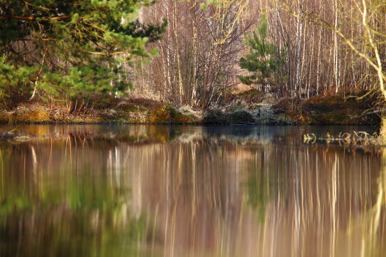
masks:
<path fill-rule="evenodd" d="M 379 124 L 385 7 L 0 0 L 0 122 Z"/>

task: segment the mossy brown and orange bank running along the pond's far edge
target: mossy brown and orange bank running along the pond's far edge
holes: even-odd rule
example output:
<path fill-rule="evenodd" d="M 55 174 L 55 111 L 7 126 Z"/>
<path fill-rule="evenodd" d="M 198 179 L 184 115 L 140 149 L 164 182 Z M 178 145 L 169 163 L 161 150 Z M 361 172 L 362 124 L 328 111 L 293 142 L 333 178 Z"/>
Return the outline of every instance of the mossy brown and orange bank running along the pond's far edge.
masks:
<path fill-rule="evenodd" d="M 227 104 L 212 111 L 176 107 L 145 98 L 105 99 L 63 102 L 36 100 L 0 112 L 0 123 L 118 123 L 118 124 L 379 124 L 371 107 L 374 97 L 360 101 L 348 96 L 366 92 L 328 94 L 309 99 L 276 100 L 256 89 L 229 97 Z"/>

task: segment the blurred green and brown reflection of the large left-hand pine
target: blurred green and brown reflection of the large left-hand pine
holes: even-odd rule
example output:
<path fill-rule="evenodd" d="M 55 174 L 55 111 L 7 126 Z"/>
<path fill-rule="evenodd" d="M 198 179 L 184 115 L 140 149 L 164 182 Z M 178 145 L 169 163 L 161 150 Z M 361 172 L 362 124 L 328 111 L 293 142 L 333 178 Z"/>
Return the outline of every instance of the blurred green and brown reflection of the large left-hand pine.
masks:
<path fill-rule="evenodd" d="M 131 186 L 101 151 L 109 142 L 74 134 L 2 142 L 0 256 L 122 256 L 146 240 L 152 222 L 132 212 Z"/>

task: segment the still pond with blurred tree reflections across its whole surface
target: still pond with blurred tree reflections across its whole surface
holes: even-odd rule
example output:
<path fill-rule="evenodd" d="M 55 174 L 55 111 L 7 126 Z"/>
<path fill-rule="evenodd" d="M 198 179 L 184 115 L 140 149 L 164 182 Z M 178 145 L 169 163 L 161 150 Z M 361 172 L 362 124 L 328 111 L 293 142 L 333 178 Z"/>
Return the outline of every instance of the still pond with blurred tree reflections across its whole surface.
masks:
<path fill-rule="evenodd" d="M 385 256 L 385 149 L 303 141 L 375 129 L 22 125 L 0 256 Z"/>

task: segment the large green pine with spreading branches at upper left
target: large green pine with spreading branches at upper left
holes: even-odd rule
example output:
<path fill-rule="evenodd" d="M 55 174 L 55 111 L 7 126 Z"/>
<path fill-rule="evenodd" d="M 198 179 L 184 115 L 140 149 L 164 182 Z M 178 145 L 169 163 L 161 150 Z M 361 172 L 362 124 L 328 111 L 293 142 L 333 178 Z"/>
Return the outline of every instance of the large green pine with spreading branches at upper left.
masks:
<path fill-rule="evenodd" d="M 0 94 L 125 90 L 130 84 L 118 81 L 123 58 L 132 64 L 157 55 L 146 44 L 161 39 L 167 25 L 136 20 L 149 1 L 0 0 Z"/>

